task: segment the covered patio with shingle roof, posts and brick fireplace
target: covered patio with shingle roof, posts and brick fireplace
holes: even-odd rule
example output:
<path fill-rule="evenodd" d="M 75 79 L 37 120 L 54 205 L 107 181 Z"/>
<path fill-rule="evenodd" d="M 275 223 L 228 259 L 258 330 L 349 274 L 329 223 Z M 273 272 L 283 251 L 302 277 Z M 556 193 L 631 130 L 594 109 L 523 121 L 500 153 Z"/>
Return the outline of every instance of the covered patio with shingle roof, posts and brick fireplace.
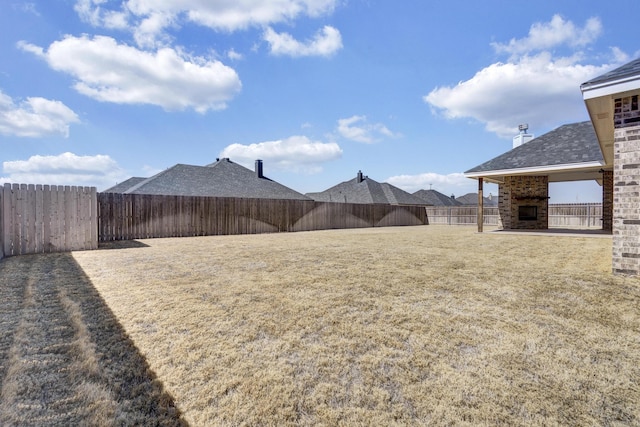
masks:
<path fill-rule="evenodd" d="M 502 230 L 548 230 L 549 184 L 591 181 L 602 186 L 602 229 L 610 233 L 613 215 L 613 166 L 605 162 L 591 122 L 560 126 L 465 172 L 483 184 L 498 184 Z M 478 231 L 482 231 L 478 209 Z"/>

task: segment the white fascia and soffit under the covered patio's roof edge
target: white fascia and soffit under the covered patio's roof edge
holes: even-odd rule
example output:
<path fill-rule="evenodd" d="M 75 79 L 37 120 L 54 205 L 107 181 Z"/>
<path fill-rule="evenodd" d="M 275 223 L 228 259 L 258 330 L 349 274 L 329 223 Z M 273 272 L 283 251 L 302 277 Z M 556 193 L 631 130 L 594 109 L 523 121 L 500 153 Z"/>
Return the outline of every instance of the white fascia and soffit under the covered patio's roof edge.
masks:
<path fill-rule="evenodd" d="M 464 176 L 471 179 L 483 178 L 487 182 L 496 184 L 503 183 L 506 176 L 548 176 L 549 182 L 595 180 L 602 185 L 602 171 L 604 169 L 611 169 L 611 166 L 607 166 L 604 162 L 587 162 L 486 172 L 465 172 Z"/>

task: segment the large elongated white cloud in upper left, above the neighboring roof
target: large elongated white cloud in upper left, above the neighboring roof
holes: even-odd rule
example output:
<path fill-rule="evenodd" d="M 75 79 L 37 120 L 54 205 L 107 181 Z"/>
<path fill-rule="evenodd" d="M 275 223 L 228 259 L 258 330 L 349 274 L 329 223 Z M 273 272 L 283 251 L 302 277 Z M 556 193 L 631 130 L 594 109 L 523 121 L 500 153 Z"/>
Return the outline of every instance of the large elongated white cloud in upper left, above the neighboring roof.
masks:
<path fill-rule="evenodd" d="M 171 48 L 147 52 L 104 36 L 67 36 L 46 52 L 24 42 L 19 46 L 72 75 L 77 79 L 74 88 L 98 101 L 205 113 L 226 108 L 241 88 L 232 68 Z"/>

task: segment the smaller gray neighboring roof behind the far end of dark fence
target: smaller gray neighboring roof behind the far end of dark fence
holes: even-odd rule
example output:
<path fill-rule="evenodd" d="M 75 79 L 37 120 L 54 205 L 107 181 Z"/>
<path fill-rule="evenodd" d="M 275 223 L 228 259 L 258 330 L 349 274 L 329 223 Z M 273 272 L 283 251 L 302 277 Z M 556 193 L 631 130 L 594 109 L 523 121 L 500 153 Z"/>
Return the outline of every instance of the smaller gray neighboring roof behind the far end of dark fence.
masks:
<path fill-rule="evenodd" d="M 338 203 L 380 203 L 386 205 L 425 205 L 419 197 L 413 196 L 386 182 L 380 183 L 362 172 L 349 181 L 344 181 L 319 193 L 307 193 L 318 202 Z"/>

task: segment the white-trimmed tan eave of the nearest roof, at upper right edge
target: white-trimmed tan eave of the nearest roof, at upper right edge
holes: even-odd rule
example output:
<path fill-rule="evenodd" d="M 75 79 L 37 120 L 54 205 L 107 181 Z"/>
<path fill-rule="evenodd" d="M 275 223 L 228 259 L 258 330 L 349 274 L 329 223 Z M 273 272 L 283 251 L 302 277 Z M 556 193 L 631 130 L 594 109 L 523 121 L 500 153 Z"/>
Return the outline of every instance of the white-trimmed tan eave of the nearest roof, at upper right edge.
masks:
<path fill-rule="evenodd" d="M 613 165 L 614 102 L 617 98 L 640 95 L 640 75 L 585 83 L 580 90 L 600 143 L 602 157 L 607 165 Z"/>

